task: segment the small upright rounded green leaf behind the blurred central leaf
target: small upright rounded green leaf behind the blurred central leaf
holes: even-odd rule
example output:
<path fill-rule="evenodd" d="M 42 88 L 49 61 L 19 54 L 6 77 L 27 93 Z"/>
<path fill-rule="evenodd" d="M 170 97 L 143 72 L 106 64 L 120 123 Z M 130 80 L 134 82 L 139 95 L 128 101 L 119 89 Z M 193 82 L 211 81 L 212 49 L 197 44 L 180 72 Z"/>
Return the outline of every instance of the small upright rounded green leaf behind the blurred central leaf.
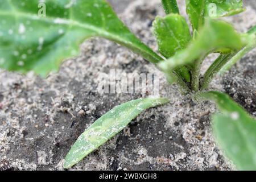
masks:
<path fill-rule="evenodd" d="M 166 58 L 174 56 L 191 41 L 188 24 L 184 16 L 179 14 L 168 14 L 164 18 L 156 17 L 153 28 L 159 52 Z M 190 73 L 185 67 L 177 69 L 176 72 L 179 72 L 187 82 L 190 81 Z"/>

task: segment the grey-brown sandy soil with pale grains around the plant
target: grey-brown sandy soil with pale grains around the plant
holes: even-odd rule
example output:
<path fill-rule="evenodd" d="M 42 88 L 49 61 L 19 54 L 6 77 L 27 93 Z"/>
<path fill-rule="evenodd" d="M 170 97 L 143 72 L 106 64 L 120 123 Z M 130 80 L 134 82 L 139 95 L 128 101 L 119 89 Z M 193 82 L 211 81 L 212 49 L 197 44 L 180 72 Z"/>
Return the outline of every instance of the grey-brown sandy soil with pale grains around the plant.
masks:
<path fill-rule="evenodd" d="M 157 50 L 152 20 L 164 15 L 160 1 L 111 1 L 131 30 Z M 256 23 L 254 1 L 247 11 L 226 18 L 238 31 Z M 180 3 L 184 14 L 184 4 Z M 209 56 L 203 71 L 216 55 Z M 251 51 L 210 90 L 230 94 L 256 116 L 256 52 Z M 159 73 L 154 65 L 126 48 L 94 38 L 81 55 L 67 60 L 47 79 L 0 70 L 0 170 L 62 170 L 64 156 L 76 138 L 111 107 L 141 94 L 99 94 L 99 73 Z M 160 94 L 170 104 L 139 115 L 120 134 L 71 170 L 224 170 L 234 169 L 214 143 L 210 102 L 196 104 L 160 75 Z"/>

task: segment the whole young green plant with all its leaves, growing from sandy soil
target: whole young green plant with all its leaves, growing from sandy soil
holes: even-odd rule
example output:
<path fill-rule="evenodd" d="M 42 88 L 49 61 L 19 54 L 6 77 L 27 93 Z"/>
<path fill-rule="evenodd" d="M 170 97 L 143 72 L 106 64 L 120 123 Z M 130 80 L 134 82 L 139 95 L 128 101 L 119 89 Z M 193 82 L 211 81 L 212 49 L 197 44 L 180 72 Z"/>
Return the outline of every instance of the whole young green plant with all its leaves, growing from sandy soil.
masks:
<path fill-rule="evenodd" d="M 125 46 L 155 64 L 170 83 L 192 97 L 214 100 L 224 114 L 213 117 L 221 148 L 240 169 L 256 169 L 255 120 L 225 94 L 201 92 L 218 72 L 225 72 L 256 46 L 256 30 L 240 34 L 218 18 L 245 11 L 239 0 L 186 0 L 192 34 L 175 0 L 162 0 L 165 17 L 156 17 L 153 31 L 158 55 L 118 19 L 105 0 L 47 1 L 46 16 L 38 16 L 38 0 L 0 4 L 0 67 L 46 77 L 64 59 L 77 56 L 85 39 L 100 36 Z M 203 76 L 201 64 L 210 53 L 220 56 Z M 196 93 L 196 94 L 194 94 Z M 165 104 L 166 98 L 143 98 L 115 107 L 77 139 L 65 158 L 70 168 L 119 133 L 142 110 Z M 231 129 L 230 129 L 231 128 Z M 226 137 L 228 136 L 228 137 Z"/>

